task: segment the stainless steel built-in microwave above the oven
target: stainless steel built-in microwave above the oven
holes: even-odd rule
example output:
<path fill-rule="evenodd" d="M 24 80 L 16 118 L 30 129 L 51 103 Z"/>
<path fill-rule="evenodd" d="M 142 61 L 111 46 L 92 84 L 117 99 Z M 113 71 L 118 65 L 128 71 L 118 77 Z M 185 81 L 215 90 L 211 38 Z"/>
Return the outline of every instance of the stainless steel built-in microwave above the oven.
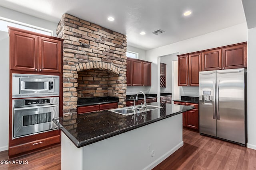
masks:
<path fill-rule="evenodd" d="M 59 96 L 60 76 L 12 74 L 12 98 Z"/>

